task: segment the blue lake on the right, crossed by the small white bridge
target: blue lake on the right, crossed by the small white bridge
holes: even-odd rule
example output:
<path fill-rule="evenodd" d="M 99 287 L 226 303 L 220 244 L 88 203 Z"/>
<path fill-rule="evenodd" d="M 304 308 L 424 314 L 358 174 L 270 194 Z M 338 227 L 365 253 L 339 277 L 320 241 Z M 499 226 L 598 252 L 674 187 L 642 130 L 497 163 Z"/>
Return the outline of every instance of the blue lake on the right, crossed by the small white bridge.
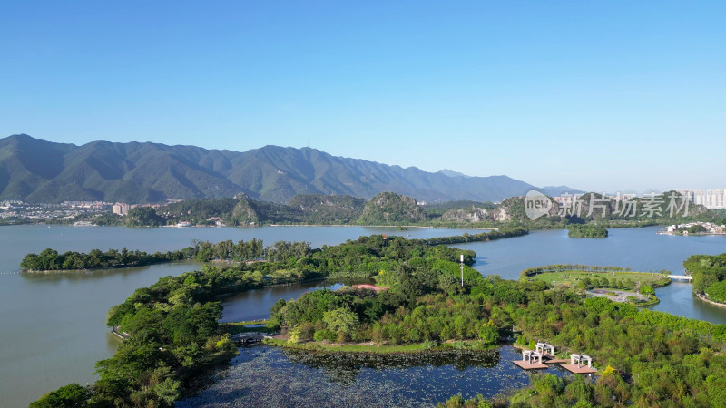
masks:
<path fill-rule="evenodd" d="M 683 261 L 693 254 L 726 252 L 726 237 L 657 235 L 659 227 L 613 228 L 603 239 L 575 239 L 566 230 L 535 231 L 520 238 L 457 245 L 476 251 L 476 270 L 483 275 L 518 279 L 527 267 L 585 264 L 631 267 L 638 271 L 666 269 L 682 275 Z M 661 303 L 652 310 L 726 324 L 726 308 L 693 297 L 691 284 L 673 282 L 655 290 Z"/>

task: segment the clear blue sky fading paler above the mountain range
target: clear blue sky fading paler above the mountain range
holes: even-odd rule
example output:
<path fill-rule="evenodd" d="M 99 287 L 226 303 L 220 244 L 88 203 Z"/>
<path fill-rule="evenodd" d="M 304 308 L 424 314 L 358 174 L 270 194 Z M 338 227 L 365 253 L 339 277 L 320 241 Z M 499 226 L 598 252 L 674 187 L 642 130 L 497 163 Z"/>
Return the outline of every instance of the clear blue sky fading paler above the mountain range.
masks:
<path fill-rule="evenodd" d="M 0 4 L 0 137 L 726 188 L 724 2 Z"/>

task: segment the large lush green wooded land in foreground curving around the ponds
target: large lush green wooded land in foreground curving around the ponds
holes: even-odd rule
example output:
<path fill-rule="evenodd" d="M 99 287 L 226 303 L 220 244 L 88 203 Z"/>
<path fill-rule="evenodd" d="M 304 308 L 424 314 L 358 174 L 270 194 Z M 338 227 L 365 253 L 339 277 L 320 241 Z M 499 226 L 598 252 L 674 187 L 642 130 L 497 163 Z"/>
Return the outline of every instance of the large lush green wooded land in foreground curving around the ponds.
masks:
<path fill-rule="evenodd" d="M 235 353 L 227 328 L 217 323 L 217 296 L 341 276 L 373 277 L 387 290 L 319 290 L 279 302 L 269 323 L 288 334 L 289 343 L 279 345 L 365 340 L 384 349 L 437 350 L 487 348 L 512 337 L 521 345 L 547 339 L 592 355 L 601 367 L 597 380 L 535 377 L 529 388 L 502 401 L 517 406 L 726 403 L 726 325 L 584 299 L 545 281 L 482 277 L 470 267 L 475 254 L 437 245 L 446 240 L 456 239 L 361 237 L 267 262 L 205 266 L 164 277 L 109 312 L 107 324 L 130 336 L 112 358 L 98 363 L 95 384 L 68 384 L 34 406 L 170 406 L 193 378 Z M 463 401 L 454 397 L 450 403 Z"/>

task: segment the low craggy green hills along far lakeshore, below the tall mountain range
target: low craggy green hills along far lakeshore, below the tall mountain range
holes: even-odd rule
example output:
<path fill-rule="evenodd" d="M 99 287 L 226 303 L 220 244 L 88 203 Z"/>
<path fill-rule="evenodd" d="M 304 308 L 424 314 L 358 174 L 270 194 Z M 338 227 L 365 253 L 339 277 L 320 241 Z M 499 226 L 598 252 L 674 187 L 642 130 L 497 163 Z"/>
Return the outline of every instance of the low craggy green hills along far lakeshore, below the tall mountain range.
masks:
<path fill-rule="evenodd" d="M 189 221 L 195 225 L 216 225 L 222 221 L 230 226 L 473 224 L 479 227 L 493 227 L 497 223 L 514 221 L 530 228 L 563 228 L 565 225 L 594 220 L 600 224 L 623 227 L 623 223 L 628 226 L 642 226 L 675 222 L 676 219 L 671 218 L 667 207 L 668 197 L 672 193 L 675 192 L 667 192 L 655 199 L 661 204 L 657 207 L 657 211 L 654 211 L 658 214 L 654 214 L 653 217 L 643 213 L 645 203 L 641 199 L 633 200 L 633 214 L 630 210 L 621 214 L 622 205 L 618 205 L 613 199 L 603 199 L 597 193 L 584 194 L 578 206 L 580 212 L 574 216 L 571 212 L 561 214 L 559 205 L 553 201 L 548 217 L 530 219 L 526 214 L 524 197 L 505 199 L 498 205 L 491 202 L 451 201 L 420 206 L 415 199 L 386 191 L 378 193 L 368 201 L 347 195 L 301 194 L 290 199 L 287 204 L 252 199 L 240 193 L 234 198 L 189 199 L 174 202 L 156 210 L 151 207 L 136 207 L 129 213 L 128 218 L 115 220 L 123 221 L 125 225 L 130 226 L 175 225 L 180 221 Z M 597 205 L 593 211 L 590 211 L 591 196 L 594 198 L 594 205 Z M 691 219 L 722 222 L 718 220 L 717 214 L 701 205 L 692 204 L 689 207 L 689 215 Z"/>

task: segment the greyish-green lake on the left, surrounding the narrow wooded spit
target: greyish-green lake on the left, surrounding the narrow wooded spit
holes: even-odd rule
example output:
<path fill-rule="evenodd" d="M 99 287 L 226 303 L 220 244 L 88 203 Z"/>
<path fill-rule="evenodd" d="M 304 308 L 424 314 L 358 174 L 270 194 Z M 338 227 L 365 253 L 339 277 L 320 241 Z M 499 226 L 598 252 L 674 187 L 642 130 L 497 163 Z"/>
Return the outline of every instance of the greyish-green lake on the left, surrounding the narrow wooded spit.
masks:
<path fill-rule="evenodd" d="M 305 240 L 319 247 L 361 235 L 382 233 L 431 238 L 464 232 L 478 231 L 431 228 L 396 231 L 396 228 L 363 227 L 0 227 L 0 407 L 26 406 L 43 393 L 71 382 L 92 383 L 93 365 L 113 355 L 116 346 L 117 340 L 105 326 L 108 309 L 123 302 L 133 290 L 147 287 L 160 277 L 197 268 L 194 264 L 182 263 L 81 274 L 13 274 L 29 252 L 38 253 L 44 248 L 63 252 L 124 246 L 144 251 L 172 250 L 188 247 L 195 238 L 210 241 L 260 238 L 266 245 L 280 239 Z M 287 289 L 291 294 L 298 290 Z M 285 291 L 274 288 L 271 293 L 283 296 Z M 254 296 L 264 297 L 259 291 L 251 296 L 255 304 L 258 302 Z M 270 310 L 270 306 L 261 308 Z"/>

